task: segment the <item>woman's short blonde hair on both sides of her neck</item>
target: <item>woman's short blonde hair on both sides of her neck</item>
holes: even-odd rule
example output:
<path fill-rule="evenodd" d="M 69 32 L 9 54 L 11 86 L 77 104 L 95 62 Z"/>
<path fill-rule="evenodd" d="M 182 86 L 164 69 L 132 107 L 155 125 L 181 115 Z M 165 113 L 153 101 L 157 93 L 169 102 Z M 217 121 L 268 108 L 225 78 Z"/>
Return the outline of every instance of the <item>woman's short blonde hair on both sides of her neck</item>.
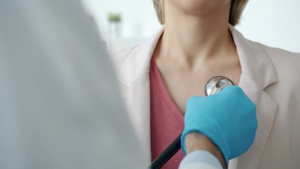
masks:
<path fill-rule="evenodd" d="M 231 0 L 230 15 L 228 22 L 235 26 L 238 24 L 242 12 L 248 0 Z M 160 24 L 165 22 L 164 2 L 163 0 L 153 0 L 154 8 Z"/>

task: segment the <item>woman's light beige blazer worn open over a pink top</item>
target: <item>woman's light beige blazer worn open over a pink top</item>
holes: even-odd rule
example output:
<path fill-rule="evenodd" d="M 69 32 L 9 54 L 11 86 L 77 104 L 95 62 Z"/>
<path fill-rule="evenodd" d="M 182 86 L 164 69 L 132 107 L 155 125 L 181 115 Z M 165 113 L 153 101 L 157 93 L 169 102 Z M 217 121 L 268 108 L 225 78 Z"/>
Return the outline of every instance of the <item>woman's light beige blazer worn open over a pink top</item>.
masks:
<path fill-rule="evenodd" d="M 149 163 L 150 58 L 163 30 L 116 56 L 129 116 Z M 239 86 L 256 103 L 259 121 L 254 144 L 229 169 L 300 169 L 300 53 L 249 41 L 231 25 L 229 30 L 242 68 Z"/>

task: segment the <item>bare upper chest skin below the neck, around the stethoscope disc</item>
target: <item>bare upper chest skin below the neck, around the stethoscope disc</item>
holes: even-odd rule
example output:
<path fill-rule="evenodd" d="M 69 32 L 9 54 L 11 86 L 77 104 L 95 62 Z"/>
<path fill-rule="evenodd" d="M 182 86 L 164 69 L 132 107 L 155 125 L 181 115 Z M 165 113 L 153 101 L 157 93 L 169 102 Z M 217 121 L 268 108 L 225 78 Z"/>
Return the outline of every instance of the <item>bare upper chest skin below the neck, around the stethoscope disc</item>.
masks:
<path fill-rule="evenodd" d="M 241 75 L 237 54 L 207 62 L 194 70 L 159 58 L 156 64 L 168 94 L 183 115 L 188 98 L 194 95 L 205 96 L 204 87 L 210 79 L 224 76 L 237 85 Z"/>

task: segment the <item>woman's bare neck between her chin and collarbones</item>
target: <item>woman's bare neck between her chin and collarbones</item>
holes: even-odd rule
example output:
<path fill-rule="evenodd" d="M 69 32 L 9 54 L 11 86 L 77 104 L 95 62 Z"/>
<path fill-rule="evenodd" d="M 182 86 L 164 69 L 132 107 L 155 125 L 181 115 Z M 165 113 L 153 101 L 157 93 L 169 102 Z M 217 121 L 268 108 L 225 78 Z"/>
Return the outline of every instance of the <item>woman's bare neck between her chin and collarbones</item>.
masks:
<path fill-rule="evenodd" d="M 197 15 L 179 11 L 165 2 L 165 30 L 155 51 L 160 56 L 190 65 L 222 57 L 235 50 L 228 31 L 230 6 L 214 13 Z"/>

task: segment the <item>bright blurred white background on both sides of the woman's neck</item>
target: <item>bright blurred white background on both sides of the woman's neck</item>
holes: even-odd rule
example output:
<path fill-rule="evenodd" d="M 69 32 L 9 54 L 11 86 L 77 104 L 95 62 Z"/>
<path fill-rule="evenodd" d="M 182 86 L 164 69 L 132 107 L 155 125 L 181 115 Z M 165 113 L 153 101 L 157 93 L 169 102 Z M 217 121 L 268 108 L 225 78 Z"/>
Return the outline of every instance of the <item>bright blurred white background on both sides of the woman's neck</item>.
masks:
<path fill-rule="evenodd" d="M 160 24 L 152 0 L 83 0 L 113 54 L 149 38 Z M 252 41 L 300 52 L 300 0 L 249 0 L 236 28 Z"/>

